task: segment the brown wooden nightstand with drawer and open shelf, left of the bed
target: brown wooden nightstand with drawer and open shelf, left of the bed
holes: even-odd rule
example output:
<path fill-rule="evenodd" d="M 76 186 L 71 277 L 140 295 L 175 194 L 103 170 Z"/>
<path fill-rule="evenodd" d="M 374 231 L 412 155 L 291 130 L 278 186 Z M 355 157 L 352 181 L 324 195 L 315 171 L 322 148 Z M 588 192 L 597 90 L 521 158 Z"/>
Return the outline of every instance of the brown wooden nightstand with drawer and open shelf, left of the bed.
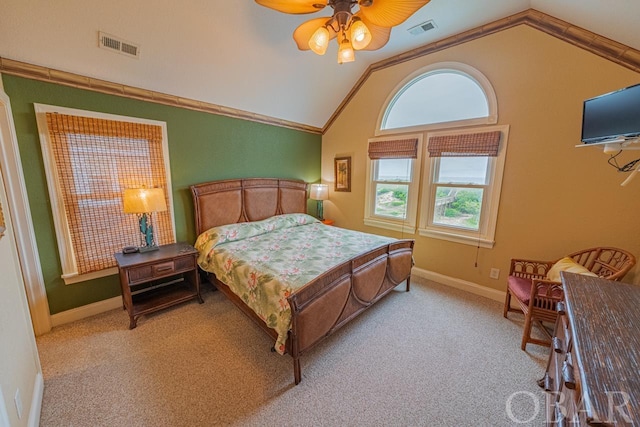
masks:
<path fill-rule="evenodd" d="M 198 251 L 186 243 L 159 246 L 145 253 L 116 253 L 122 304 L 129 313 L 129 329 L 138 317 L 200 296 Z"/>

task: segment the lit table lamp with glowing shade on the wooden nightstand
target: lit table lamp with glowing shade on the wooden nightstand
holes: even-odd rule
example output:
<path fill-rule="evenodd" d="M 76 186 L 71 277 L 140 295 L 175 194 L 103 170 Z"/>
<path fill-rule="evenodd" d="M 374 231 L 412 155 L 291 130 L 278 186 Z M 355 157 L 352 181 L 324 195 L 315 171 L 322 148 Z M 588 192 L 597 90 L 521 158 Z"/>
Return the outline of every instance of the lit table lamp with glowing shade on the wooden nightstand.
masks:
<path fill-rule="evenodd" d="M 162 188 L 128 188 L 122 196 L 123 210 L 125 213 L 138 215 L 142 245 L 139 252 L 149 252 L 158 249 L 153 237 L 153 224 L 151 214 L 164 212 L 167 203 L 164 199 Z"/>

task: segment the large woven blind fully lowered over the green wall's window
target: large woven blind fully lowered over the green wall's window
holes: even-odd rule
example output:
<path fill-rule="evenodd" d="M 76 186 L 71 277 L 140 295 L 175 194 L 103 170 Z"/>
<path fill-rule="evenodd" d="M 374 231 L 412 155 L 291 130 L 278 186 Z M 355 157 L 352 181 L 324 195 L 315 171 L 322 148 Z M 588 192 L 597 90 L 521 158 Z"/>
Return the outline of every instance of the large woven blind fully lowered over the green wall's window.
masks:
<path fill-rule="evenodd" d="M 162 188 L 169 206 L 162 128 L 59 113 L 46 120 L 77 273 L 114 267 L 115 252 L 140 244 L 136 215 L 122 211 L 124 189 Z M 169 211 L 153 222 L 157 243 L 172 243 Z"/>

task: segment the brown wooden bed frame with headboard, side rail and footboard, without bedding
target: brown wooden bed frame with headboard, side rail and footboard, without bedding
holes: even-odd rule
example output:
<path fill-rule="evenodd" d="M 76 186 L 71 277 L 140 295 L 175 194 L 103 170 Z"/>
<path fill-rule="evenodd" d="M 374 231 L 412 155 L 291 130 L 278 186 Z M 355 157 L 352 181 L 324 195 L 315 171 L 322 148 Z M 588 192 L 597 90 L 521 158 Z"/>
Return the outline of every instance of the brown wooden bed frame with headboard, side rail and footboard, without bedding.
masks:
<path fill-rule="evenodd" d="M 307 184 L 298 180 L 249 178 L 214 181 L 191 186 L 195 228 L 200 235 L 212 227 L 260 221 L 274 215 L 306 213 Z M 295 383 L 300 383 L 300 356 L 362 311 L 406 281 L 409 291 L 413 240 L 397 240 L 321 274 L 287 299 L 291 328 L 286 352 L 293 358 Z M 227 285 L 207 273 L 208 280 L 271 337 L 251 308 Z"/>

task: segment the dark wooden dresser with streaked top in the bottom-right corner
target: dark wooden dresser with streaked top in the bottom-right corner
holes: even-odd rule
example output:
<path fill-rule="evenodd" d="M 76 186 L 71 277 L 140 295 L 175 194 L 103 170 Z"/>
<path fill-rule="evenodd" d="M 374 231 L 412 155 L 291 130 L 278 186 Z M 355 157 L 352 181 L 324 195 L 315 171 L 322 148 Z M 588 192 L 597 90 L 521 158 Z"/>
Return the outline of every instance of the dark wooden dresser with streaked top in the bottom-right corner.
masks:
<path fill-rule="evenodd" d="M 545 378 L 552 426 L 640 425 L 640 287 L 562 273 Z"/>

